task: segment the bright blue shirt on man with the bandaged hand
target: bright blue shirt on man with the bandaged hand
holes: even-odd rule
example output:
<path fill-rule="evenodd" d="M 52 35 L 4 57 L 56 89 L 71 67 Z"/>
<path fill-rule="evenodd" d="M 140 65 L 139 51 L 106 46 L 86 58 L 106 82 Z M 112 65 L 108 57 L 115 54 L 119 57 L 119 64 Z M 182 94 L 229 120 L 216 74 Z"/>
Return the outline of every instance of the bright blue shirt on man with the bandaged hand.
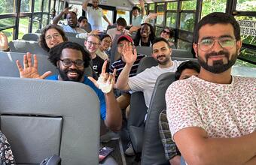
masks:
<path fill-rule="evenodd" d="M 58 80 L 58 75 L 53 75 L 50 77 L 46 77 L 46 80 Z M 106 105 L 105 105 L 105 96 L 104 93 L 99 90 L 93 82 L 91 82 L 87 77 L 84 77 L 84 84 L 87 86 L 90 86 L 90 88 L 93 89 L 94 92 L 96 92 L 96 95 L 99 98 L 100 101 L 100 117 L 102 120 L 105 120 L 105 115 L 106 115 Z"/>

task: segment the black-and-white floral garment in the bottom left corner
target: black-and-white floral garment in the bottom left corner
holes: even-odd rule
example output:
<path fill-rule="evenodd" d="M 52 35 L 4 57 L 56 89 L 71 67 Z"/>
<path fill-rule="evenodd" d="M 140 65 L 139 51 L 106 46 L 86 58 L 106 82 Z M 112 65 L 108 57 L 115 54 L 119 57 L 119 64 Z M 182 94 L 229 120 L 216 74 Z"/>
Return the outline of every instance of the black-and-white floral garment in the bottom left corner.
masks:
<path fill-rule="evenodd" d="M 6 136 L 0 130 L 0 163 L 2 165 L 16 164 L 14 154 L 11 151 L 11 145 L 8 143 Z"/>

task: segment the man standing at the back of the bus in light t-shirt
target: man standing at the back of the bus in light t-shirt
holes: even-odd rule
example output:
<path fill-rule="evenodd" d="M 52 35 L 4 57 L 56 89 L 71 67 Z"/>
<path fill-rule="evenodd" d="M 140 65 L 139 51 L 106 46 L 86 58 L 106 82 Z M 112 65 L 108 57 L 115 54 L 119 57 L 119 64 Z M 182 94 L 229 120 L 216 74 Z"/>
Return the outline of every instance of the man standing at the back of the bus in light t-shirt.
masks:
<path fill-rule="evenodd" d="M 93 6 L 87 7 L 89 0 L 85 0 L 82 7 L 87 12 L 87 18 L 93 30 L 103 31 L 102 17 L 109 26 L 113 24 L 104 15 L 102 8 L 99 7 L 99 0 L 93 0 Z"/>

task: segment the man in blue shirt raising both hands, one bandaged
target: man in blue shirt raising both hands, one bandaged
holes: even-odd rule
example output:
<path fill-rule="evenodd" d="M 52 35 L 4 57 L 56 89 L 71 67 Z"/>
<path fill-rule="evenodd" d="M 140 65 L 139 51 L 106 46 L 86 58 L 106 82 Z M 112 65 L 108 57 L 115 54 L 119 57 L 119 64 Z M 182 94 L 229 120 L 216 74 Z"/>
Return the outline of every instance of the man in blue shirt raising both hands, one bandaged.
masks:
<path fill-rule="evenodd" d="M 49 60 L 56 66 L 59 75 L 50 76 L 50 71 L 43 75 L 38 74 L 38 61 L 34 55 L 34 65 L 32 65 L 32 55 L 28 52 L 24 55 L 23 66 L 17 61 L 17 67 L 20 71 L 21 78 L 38 78 L 46 80 L 62 80 L 84 83 L 90 86 L 99 97 L 100 114 L 105 125 L 113 131 L 120 130 L 122 125 L 122 115 L 117 100 L 114 97 L 113 86 L 116 71 L 113 74 L 105 73 L 106 62 L 102 67 L 101 77 L 103 80 L 111 82 L 110 92 L 103 93 L 99 90 L 99 84 L 92 77 L 84 76 L 84 68 L 90 65 L 90 53 L 85 51 L 83 46 L 78 43 L 63 42 L 50 49 Z"/>

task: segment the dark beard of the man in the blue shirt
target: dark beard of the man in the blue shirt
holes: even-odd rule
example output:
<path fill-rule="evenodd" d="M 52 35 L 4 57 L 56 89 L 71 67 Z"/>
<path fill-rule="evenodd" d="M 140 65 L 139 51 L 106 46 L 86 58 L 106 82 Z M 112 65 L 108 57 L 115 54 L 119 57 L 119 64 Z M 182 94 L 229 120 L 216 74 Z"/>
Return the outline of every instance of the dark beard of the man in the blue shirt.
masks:
<path fill-rule="evenodd" d="M 74 82 L 79 82 L 81 78 L 84 76 L 84 71 L 80 71 L 78 69 L 65 69 L 65 70 L 60 70 L 59 71 L 59 76 L 62 78 L 63 81 L 74 81 Z M 68 77 L 69 72 L 75 72 L 78 74 L 78 77 L 72 79 Z"/>

